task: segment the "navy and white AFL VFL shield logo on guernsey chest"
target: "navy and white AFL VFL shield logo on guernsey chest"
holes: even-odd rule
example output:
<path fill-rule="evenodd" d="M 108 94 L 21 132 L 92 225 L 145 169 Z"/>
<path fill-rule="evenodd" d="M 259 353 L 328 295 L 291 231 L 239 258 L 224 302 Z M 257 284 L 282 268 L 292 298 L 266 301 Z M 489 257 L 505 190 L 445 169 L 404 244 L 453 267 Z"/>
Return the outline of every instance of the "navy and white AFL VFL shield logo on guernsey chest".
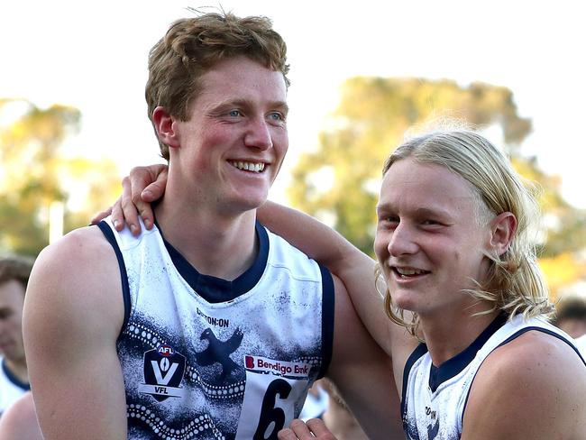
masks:
<path fill-rule="evenodd" d="M 139 391 L 159 402 L 183 396 L 179 388 L 185 373 L 185 356 L 170 345 L 160 345 L 144 353 L 144 382 Z"/>

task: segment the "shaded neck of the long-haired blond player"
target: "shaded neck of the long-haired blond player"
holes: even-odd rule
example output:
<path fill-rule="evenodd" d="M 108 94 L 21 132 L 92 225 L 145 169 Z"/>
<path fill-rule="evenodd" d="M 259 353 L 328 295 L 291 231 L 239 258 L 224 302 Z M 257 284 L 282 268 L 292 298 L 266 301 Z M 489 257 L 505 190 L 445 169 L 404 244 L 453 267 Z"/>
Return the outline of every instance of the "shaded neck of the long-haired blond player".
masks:
<path fill-rule="evenodd" d="M 486 304 L 480 307 L 464 307 L 451 315 L 431 318 L 420 316 L 421 329 L 427 349 L 435 366 L 439 366 L 458 353 L 462 353 L 481 335 L 486 327 L 499 315 L 499 311 L 487 315 L 473 316 L 487 310 Z"/>

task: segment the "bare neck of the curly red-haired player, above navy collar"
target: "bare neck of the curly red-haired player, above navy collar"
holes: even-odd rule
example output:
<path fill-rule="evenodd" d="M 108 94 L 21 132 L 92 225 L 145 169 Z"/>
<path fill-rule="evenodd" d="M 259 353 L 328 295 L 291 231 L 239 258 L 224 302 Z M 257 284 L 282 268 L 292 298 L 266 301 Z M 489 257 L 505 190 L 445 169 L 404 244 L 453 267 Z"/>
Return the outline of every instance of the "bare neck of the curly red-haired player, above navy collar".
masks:
<path fill-rule="evenodd" d="M 198 272 L 234 280 L 251 267 L 258 252 L 256 210 L 226 215 L 163 199 L 155 212 L 165 239 Z"/>

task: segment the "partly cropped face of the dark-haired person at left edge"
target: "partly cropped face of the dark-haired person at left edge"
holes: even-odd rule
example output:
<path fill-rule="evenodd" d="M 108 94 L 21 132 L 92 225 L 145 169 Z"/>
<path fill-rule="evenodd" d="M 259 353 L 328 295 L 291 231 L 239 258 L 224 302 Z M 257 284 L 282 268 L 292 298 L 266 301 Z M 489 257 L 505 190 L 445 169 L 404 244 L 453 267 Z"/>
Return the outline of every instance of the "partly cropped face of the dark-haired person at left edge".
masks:
<path fill-rule="evenodd" d="M 7 361 L 23 362 L 24 288 L 17 280 L 0 283 L 0 354 Z"/>

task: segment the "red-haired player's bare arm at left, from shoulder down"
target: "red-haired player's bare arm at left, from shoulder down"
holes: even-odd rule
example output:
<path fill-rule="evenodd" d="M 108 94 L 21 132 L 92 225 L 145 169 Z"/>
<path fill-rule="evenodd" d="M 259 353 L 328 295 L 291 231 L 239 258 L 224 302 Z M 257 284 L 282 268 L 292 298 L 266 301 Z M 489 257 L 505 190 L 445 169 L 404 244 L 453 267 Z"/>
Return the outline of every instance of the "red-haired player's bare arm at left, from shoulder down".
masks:
<path fill-rule="evenodd" d="M 96 227 L 46 248 L 32 270 L 23 332 L 47 440 L 126 438 L 115 342 L 124 320 L 114 251 Z"/>

